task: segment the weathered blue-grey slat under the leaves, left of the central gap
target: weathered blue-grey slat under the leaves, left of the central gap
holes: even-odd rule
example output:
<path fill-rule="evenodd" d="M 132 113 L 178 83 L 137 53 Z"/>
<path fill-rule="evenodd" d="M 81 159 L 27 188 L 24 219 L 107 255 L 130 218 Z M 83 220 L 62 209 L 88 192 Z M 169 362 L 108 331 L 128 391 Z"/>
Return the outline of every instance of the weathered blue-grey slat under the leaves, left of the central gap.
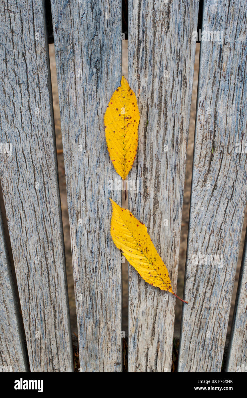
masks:
<path fill-rule="evenodd" d="M 121 204 L 104 113 L 121 80 L 121 2 L 52 0 L 75 301 L 83 372 L 122 371 L 121 260 L 109 197 Z M 113 187 L 114 188 L 114 187 Z"/>

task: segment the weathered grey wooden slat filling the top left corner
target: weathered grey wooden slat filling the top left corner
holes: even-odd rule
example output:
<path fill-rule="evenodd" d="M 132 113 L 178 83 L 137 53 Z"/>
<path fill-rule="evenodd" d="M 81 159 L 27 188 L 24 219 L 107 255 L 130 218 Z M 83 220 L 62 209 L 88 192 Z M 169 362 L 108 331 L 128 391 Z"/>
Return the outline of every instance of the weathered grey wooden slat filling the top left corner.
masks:
<path fill-rule="evenodd" d="M 44 4 L 0 5 L 0 178 L 30 369 L 73 371 Z"/>

